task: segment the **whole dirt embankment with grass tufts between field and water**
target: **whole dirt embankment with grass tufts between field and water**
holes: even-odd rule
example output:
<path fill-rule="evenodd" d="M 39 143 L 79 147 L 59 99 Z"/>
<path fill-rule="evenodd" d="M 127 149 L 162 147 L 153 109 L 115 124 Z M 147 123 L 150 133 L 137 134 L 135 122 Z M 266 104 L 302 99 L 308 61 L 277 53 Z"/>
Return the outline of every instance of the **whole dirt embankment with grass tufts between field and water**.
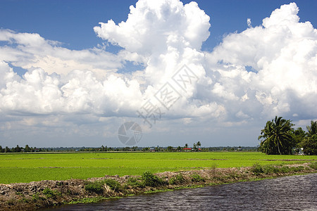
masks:
<path fill-rule="evenodd" d="M 142 194 L 191 186 L 224 184 L 297 173 L 312 173 L 315 164 L 284 165 L 282 167 L 254 165 L 242 168 L 211 168 L 185 172 L 163 172 L 142 176 L 105 176 L 66 181 L 32 181 L 30 183 L 0 184 L 0 210 L 37 210 L 70 202 L 92 201 L 108 197 Z"/>

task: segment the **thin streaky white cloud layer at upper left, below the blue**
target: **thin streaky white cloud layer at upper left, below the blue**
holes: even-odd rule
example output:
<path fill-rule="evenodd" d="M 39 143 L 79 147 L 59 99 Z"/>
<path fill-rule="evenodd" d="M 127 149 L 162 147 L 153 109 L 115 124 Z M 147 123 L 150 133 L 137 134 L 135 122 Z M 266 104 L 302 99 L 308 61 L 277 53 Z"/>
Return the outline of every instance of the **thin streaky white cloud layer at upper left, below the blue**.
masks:
<path fill-rule="evenodd" d="M 26 70 L 41 68 L 45 72 L 67 74 L 79 69 L 89 70 L 100 76 L 122 67 L 123 56 L 115 56 L 103 49 L 69 50 L 58 41 L 46 40 L 39 34 L 15 33 L 0 30 L 0 60 Z"/>

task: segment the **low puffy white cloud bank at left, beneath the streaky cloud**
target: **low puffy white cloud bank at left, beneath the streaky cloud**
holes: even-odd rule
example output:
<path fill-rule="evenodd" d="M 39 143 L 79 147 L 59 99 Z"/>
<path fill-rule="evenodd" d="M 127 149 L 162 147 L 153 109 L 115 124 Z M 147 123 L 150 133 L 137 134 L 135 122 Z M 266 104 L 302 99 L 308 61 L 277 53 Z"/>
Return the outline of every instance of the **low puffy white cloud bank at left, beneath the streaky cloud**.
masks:
<path fill-rule="evenodd" d="M 52 114 L 93 113 L 120 115 L 125 110 L 136 110 L 142 101 L 139 84 L 135 80 L 114 75 L 104 81 L 92 72 L 73 70 L 68 75 L 57 75 L 35 69 L 19 78 L 4 62 L 2 73 L 5 84 L 0 91 L 1 110 L 8 113 Z M 13 78 L 16 79 L 13 79 Z"/>

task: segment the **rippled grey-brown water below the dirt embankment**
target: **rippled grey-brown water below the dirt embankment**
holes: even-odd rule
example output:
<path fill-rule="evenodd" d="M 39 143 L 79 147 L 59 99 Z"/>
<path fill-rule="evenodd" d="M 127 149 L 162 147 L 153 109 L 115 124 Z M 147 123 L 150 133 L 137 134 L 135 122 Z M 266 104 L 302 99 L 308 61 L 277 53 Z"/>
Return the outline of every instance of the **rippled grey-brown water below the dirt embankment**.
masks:
<path fill-rule="evenodd" d="M 50 210 L 317 210 L 317 174 L 151 193 Z"/>

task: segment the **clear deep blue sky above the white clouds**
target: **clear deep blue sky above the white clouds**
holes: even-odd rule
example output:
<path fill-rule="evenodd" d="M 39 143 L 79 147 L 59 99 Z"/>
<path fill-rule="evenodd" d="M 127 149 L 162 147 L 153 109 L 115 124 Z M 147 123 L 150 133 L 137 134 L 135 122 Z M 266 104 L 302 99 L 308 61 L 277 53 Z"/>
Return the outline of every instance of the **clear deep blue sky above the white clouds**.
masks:
<path fill-rule="evenodd" d="M 110 19 L 115 23 L 127 20 L 129 7 L 136 2 L 1 0 L 0 25 L 4 29 L 38 33 L 45 39 L 61 41 L 68 49 L 87 49 L 102 43 L 92 30 L 94 26 Z M 187 4 L 190 1 L 182 2 Z M 294 1 L 197 1 L 199 8 L 211 17 L 211 36 L 204 42 L 203 49 L 211 51 L 222 41 L 224 34 L 245 30 L 247 18 L 251 18 L 252 25 L 261 25 L 262 19 L 268 17 L 275 8 L 290 2 Z M 309 21 L 316 27 L 317 1 L 296 3 L 301 21 Z"/>

